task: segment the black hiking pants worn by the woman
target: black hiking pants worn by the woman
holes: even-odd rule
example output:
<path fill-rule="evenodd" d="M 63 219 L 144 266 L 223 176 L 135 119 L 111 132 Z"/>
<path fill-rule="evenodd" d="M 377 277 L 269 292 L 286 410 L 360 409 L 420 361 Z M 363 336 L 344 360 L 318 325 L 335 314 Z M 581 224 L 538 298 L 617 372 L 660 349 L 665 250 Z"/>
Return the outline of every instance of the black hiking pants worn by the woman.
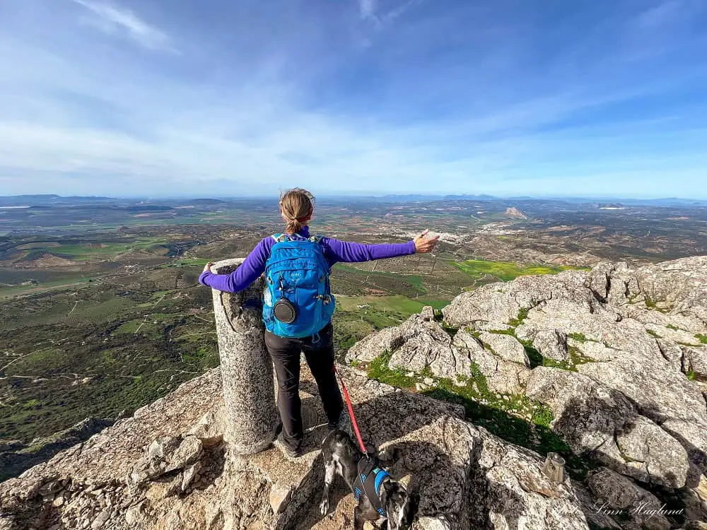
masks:
<path fill-rule="evenodd" d="M 305 353 L 319 387 L 329 425 L 338 423 L 344 408 L 334 375 L 334 328 L 331 322 L 319 332 L 319 337 L 319 341 L 312 342 L 312 337 L 281 337 L 265 331 L 265 346 L 277 375 L 277 408 L 282 420 L 282 437 L 293 449 L 300 447 L 304 437 L 299 394 L 301 352 Z"/>

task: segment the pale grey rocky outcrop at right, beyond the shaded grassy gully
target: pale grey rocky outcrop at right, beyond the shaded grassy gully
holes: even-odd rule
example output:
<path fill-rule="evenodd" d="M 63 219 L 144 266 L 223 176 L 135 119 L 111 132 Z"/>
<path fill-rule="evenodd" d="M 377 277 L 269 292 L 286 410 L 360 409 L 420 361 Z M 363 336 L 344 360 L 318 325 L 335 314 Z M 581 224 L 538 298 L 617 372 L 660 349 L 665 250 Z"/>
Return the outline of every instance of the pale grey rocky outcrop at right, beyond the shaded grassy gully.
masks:
<path fill-rule="evenodd" d="M 443 338 L 455 364 L 432 372 L 468 377 L 471 363 L 491 391 L 549 406 L 575 454 L 641 483 L 694 488 L 707 472 L 706 317 L 707 257 L 521 277 L 445 307 L 440 328 L 459 330 Z M 406 341 L 395 337 L 392 355 Z M 349 359 L 380 355 L 379 340 Z M 428 367 L 408 359 L 406 368 Z"/>

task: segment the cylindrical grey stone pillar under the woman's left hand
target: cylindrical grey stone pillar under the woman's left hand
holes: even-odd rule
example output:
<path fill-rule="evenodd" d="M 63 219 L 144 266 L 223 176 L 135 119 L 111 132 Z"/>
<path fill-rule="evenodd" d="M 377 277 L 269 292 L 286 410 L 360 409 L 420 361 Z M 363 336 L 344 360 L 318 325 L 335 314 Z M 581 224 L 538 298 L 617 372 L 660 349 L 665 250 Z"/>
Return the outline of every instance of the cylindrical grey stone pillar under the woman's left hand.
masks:
<path fill-rule="evenodd" d="M 214 273 L 228 274 L 243 258 L 218 261 Z M 226 404 L 226 440 L 235 454 L 255 454 L 273 442 L 280 417 L 270 356 L 265 349 L 258 278 L 240 293 L 211 290 L 221 358 L 223 400 Z"/>

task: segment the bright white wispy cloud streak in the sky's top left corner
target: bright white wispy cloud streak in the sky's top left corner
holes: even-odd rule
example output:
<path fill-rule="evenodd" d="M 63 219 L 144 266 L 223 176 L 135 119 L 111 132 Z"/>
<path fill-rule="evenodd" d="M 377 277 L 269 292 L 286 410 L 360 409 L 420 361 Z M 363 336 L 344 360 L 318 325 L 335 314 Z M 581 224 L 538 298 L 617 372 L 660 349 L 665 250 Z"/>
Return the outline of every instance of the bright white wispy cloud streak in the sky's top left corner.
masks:
<path fill-rule="evenodd" d="M 74 0 L 93 16 L 88 22 L 110 35 L 122 35 L 148 49 L 176 52 L 172 39 L 159 28 L 146 23 L 128 8 L 105 0 Z"/>

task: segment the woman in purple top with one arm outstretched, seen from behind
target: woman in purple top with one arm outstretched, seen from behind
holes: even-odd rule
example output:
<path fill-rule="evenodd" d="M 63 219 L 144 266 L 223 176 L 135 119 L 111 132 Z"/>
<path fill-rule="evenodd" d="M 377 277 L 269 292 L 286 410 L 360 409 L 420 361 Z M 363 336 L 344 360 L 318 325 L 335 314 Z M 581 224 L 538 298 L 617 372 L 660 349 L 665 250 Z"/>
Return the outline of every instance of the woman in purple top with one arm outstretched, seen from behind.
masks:
<path fill-rule="evenodd" d="M 407 243 L 383 243 L 380 245 L 361 245 L 359 243 L 335 240 L 331 237 L 310 237 L 308 224 L 314 213 L 314 196 L 305 189 L 300 188 L 291 189 L 282 196 L 280 213 L 286 223 L 285 235 L 281 235 L 281 237 L 277 235 L 266 237 L 259 242 L 257 247 L 243 261 L 243 264 L 230 275 L 214 274 L 211 272 L 211 265 L 213 264 L 207 264 L 204 272 L 199 277 L 199 283 L 217 290 L 237 293 L 247 288 L 267 269 L 267 274 L 271 273 L 271 270 L 274 269 L 271 266 L 273 261 L 268 261 L 271 257 L 271 252 L 279 252 L 278 249 L 282 245 L 288 244 L 288 249 L 291 252 L 293 249 L 292 242 L 309 241 L 317 243 L 316 245 L 294 244 L 295 247 L 299 247 L 295 250 L 310 247 L 312 252 L 319 252 L 319 255 L 323 255 L 325 260 L 320 260 L 327 269 L 319 278 L 322 283 L 319 291 L 320 295 L 312 298 L 317 298 L 322 302 L 323 305 L 320 305 L 322 309 L 317 314 L 321 314 L 322 318 L 326 319 L 327 322 L 322 323 L 325 325 L 320 328 L 315 319 L 312 325 L 316 326 L 313 329 L 316 332 L 302 336 L 297 333 L 289 333 L 289 331 L 281 331 L 290 329 L 288 324 L 295 322 L 298 317 L 300 320 L 311 320 L 310 314 L 303 314 L 303 311 L 298 314 L 298 309 L 302 310 L 304 307 L 307 311 L 311 312 L 312 310 L 306 309 L 305 306 L 293 307 L 290 300 L 284 300 L 286 298 L 285 293 L 291 292 L 292 289 L 288 288 L 287 285 L 283 285 L 283 278 L 285 278 L 285 281 L 287 281 L 287 278 L 282 276 L 282 273 L 278 277 L 280 285 L 276 285 L 277 281 L 273 282 L 270 276 L 266 276 L 266 283 L 272 285 L 269 286 L 269 290 L 266 292 L 266 307 L 264 308 L 264 319 L 266 322 L 265 345 L 272 358 L 277 375 L 277 404 L 282 419 L 282 441 L 287 454 L 296 458 L 303 453 L 302 411 L 299 396 L 300 353 L 302 351 L 305 353 L 307 363 L 317 382 L 317 387 L 319 387 L 330 430 L 339 428 L 339 418 L 344 407 L 339 385 L 334 375 L 334 334 L 330 321 L 334 308 L 334 304 L 331 302 L 334 302 L 334 297 L 328 293 L 328 276 L 331 267 L 339 261 L 351 263 L 407 256 L 416 252 L 431 252 L 437 243 L 438 236 L 426 237 L 428 231 L 425 230 L 414 240 Z M 276 247 L 276 250 L 273 251 L 275 245 L 280 245 L 280 247 Z M 316 264 L 317 259 L 315 258 L 312 257 L 305 261 L 308 264 Z M 280 262 L 278 261 L 278 263 Z M 295 271 L 294 273 L 299 272 Z M 299 273 L 298 281 L 302 277 L 303 274 Z M 274 305 L 273 309 L 272 300 L 268 300 L 269 293 L 274 293 L 273 296 L 281 293 L 279 295 L 280 301 L 281 305 L 284 306 L 286 317 L 277 315 L 277 305 Z M 295 298 L 299 297 L 289 296 L 288 298 L 295 300 Z M 283 322 L 278 322 L 278 319 L 283 320 Z M 309 332 L 306 331 L 305 333 Z"/>

